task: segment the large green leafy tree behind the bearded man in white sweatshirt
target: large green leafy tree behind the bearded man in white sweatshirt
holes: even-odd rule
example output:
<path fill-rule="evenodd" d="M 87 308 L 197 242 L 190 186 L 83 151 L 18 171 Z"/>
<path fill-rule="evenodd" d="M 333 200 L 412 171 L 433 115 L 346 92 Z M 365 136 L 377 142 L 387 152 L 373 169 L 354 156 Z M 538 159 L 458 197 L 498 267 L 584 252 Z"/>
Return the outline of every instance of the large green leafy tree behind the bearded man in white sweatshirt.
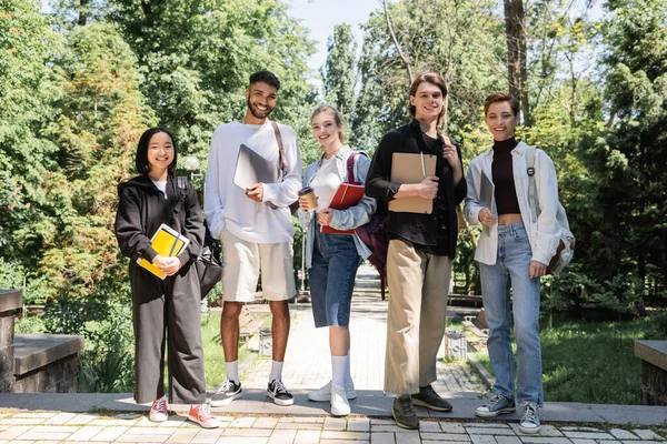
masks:
<path fill-rule="evenodd" d="M 242 117 L 243 90 L 257 70 L 269 69 L 281 81 L 272 117 L 307 121 L 306 59 L 313 43 L 287 9 L 278 0 L 109 0 L 107 17 L 139 59 L 141 90 L 160 124 L 206 168 L 210 135 Z"/>

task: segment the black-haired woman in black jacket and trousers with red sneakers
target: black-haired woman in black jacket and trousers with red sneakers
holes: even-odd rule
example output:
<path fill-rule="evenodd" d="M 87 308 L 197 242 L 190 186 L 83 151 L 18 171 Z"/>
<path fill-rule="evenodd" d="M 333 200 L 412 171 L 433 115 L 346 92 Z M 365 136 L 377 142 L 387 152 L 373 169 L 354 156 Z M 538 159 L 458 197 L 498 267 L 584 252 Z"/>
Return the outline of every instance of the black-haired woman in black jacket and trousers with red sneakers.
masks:
<path fill-rule="evenodd" d="M 183 196 L 173 175 L 177 151 L 171 134 L 161 128 L 146 131 L 135 159 L 141 174 L 118 185 L 116 238 L 130 258 L 135 326 L 135 400 L 152 401 L 149 420 L 167 421 L 165 340 L 168 344 L 169 401 L 192 404 L 189 420 L 202 427 L 220 425 L 206 404 L 203 351 L 199 313 L 197 260 L 205 236 L 203 214 L 191 184 Z M 185 202 L 183 202 L 185 200 Z M 162 224 L 190 243 L 175 258 L 157 254 L 150 239 Z M 166 275 L 156 276 L 138 264 L 146 259 Z"/>

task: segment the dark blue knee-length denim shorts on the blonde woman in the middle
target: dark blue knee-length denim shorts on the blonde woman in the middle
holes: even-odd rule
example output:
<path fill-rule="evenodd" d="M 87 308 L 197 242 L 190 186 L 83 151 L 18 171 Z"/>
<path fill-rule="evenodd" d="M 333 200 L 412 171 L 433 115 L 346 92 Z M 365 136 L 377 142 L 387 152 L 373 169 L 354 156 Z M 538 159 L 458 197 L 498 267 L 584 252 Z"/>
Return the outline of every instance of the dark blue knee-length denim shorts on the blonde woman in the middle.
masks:
<path fill-rule="evenodd" d="M 351 235 L 320 233 L 316 224 L 308 274 L 315 326 L 350 324 L 352 290 L 360 263 Z"/>

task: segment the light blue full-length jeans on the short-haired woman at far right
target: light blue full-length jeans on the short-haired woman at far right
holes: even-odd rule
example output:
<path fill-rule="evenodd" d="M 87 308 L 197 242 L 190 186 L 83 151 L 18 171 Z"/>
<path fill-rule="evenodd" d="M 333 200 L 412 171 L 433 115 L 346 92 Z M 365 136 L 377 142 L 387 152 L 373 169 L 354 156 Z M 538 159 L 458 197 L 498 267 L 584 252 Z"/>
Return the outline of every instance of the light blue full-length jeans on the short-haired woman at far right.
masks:
<path fill-rule="evenodd" d="M 522 223 L 498 226 L 495 265 L 480 263 L 481 294 L 490 327 L 487 347 L 496 374 L 494 393 L 515 397 L 510 322 L 517 341 L 517 402 L 542 404 L 539 345 L 539 278 L 529 279 L 532 251 Z M 512 289 L 510 310 L 509 289 Z M 514 313 L 512 313 L 514 312 Z"/>

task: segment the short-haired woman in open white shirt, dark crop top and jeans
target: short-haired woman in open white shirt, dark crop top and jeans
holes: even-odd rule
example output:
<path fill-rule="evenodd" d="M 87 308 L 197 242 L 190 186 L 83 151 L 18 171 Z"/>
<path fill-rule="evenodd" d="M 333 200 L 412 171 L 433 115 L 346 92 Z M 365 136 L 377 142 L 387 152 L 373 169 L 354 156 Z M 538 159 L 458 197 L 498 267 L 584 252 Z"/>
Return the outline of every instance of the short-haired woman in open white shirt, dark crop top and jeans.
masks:
<path fill-rule="evenodd" d="M 494 396 L 478 407 L 477 416 L 490 417 L 524 406 L 519 427 L 524 433 L 540 430 L 537 407 L 542 404 L 541 350 L 539 343 L 539 280 L 556 253 L 560 229 L 556 222 L 558 183 L 554 162 L 536 150 L 531 173 L 540 213 L 530 214 L 528 198 L 529 148 L 515 139 L 519 102 L 500 92 L 485 101 L 485 122 L 494 145 L 470 162 L 466 219 L 481 223 L 475 259 L 479 261 L 481 293 L 490 327 L 489 357 L 496 374 Z M 510 292 L 512 290 L 512 304 Z M 511 350 L 510 323 L 514 314 L 517 341 L 517 393 Z"/>

